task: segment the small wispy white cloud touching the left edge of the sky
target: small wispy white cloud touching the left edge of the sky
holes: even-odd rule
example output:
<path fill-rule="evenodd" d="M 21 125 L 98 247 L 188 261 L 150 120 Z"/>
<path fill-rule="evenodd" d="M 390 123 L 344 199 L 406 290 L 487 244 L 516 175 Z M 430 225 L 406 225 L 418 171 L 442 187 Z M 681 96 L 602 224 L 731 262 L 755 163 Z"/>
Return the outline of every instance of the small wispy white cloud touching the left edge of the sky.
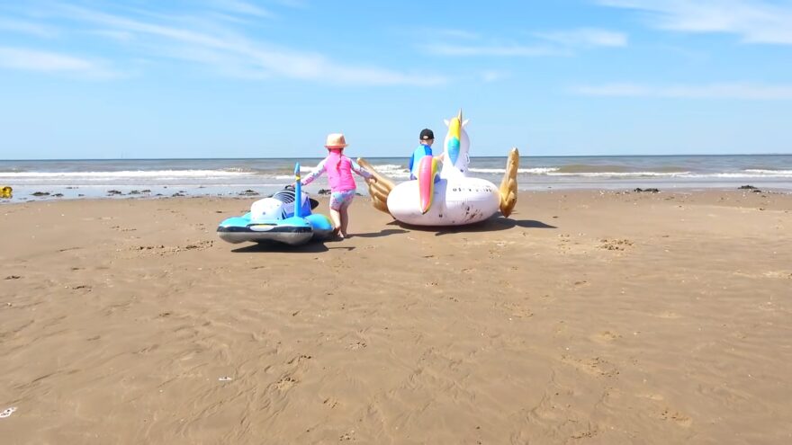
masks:
<path fill-rule="evenodd" d="M 0 67 L 43 73 L 67 73 L 97 79 L 117 76 L 102 64 L 85 58 L 24 48 L 0 47 Z"/>

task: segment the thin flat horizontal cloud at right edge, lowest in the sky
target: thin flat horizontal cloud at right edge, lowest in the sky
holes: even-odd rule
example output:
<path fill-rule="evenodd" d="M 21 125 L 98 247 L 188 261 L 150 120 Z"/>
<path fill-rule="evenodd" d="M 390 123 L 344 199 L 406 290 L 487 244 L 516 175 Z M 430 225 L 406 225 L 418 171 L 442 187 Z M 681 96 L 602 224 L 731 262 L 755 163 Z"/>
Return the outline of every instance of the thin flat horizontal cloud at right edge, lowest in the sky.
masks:
<path fill-rule="evenodd" d="M 707 85 L 584 85 L 573 93 L 599 97 L 646 97 L 675 99 L 742 99 L 755 101 L 792 100 L 792 85 L 707 84 Z"/>

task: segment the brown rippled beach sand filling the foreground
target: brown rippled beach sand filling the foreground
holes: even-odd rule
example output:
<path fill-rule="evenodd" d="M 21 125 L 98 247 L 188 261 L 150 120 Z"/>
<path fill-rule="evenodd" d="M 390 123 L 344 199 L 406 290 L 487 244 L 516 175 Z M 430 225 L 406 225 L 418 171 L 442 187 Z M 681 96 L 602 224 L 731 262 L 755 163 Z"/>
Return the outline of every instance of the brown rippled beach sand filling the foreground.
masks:
<path fill-rule="evenodd" d="M 0 442 L 792 442 L 792 195 L 221 242 L 252 200 L 0 206 Z"/>

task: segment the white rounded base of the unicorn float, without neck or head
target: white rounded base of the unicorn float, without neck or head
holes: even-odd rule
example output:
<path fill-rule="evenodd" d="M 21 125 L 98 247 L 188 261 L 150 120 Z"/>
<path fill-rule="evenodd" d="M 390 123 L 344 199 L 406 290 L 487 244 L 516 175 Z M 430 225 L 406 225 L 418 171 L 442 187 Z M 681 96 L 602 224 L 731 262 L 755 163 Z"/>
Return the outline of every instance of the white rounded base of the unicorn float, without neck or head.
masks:
<path fill-rule="evenodd" d="M 432 206 L 422 213 L 418 181 L 402 182 L 388 195 L 393 218 L 415 226 L 462 226 L 490 218 L 500 208 L 500 192 L 479 178 L 441 179 L 435 183 Z"/>

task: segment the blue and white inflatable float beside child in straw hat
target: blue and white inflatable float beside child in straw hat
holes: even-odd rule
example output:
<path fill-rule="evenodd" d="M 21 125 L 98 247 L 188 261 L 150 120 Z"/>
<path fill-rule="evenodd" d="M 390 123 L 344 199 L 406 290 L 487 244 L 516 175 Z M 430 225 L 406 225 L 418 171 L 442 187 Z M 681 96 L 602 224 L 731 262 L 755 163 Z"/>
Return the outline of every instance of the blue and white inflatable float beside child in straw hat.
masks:
<path fill-rule="evenodd" d="M 222 221 L 217 227 L 220 239 L 234 244 L 249 241 L 303 245 L 328 238 L 335 227 L 328 217 L 311 213 L 312 200 L 302 193 L 299 164 L 294 167 L 294 175 L 296 184 L 292 190 L 284 189 L 257 200 L 245 215 Z"/>

